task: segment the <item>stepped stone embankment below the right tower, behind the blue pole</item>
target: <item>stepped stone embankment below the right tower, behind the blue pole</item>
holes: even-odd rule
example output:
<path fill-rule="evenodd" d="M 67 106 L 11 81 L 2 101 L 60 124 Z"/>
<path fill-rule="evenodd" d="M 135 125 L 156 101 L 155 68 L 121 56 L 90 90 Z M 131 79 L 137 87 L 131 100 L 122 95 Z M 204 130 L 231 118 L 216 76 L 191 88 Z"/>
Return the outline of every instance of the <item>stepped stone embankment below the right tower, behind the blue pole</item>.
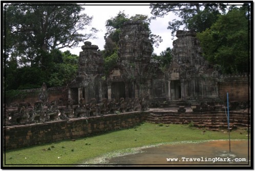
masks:
<path fill-rule="evenodd" d="M 227 117 L 225 111 L 209 112 L 152 112 L 148 115 L 147 122 L 157 124 L 189 124 L 193 122 L 197 127 L 208 127 L 210 129 L 227 129 Z M 229 113 L 230 128 L 250 127 L 250 111 L 243 112 L 230 111 Z"/>

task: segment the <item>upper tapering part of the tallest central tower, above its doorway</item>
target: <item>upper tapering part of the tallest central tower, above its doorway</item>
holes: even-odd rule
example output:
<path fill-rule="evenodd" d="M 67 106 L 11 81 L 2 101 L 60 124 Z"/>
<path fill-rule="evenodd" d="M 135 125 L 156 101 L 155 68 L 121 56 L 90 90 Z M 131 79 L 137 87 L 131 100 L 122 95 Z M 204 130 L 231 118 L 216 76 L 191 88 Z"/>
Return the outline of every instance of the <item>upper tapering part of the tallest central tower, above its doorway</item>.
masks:
<path fill-rule="evenodd" d="M 145 77 L 146 67 L 150 63 L 153 46 L 149 33 L 140 21 L 128 21 L 119 41 L 119 64 L 133 72 L 135 78 Z M 129 68 L 132 66 L 133 68 Z M 135 69 L 135 70 L 134 70 Z"/>

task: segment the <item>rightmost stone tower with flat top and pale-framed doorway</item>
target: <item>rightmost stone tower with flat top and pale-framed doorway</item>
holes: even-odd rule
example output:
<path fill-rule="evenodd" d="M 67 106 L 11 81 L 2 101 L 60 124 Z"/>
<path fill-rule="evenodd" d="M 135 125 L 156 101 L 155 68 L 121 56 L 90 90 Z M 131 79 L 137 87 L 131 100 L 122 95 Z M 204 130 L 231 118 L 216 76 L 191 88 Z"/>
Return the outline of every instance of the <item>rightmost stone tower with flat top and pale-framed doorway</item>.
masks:
<path fill-rule="evenodd" d="M 218 72 L 202 56 L 196 32 L 177 31 L 173 59 L 166 73 L 169 100 L 218 97 Z"/>

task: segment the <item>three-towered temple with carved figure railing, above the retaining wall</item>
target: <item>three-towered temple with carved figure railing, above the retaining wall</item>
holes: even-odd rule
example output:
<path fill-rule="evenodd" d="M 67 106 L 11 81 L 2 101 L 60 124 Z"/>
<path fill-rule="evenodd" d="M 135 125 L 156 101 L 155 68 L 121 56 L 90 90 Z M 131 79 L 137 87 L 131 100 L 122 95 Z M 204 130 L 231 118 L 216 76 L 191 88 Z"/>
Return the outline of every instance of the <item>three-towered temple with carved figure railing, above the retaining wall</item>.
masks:
<path fill-rule="evenodd" d="M 240 79 L 231 79 L 234 83 L 229 80 L 231 86 L 225 85 L 225 77 L 202 57 L 195 32 L 177 31 L 176 36 L 172 62 L 163 72 L 159 63 L 151 59 L 153 46 L 143 24 L 125 22 L 118 44 L 117 64 L 105 77 L 98 46 L 84 42 L 77 76 L 62 88 L 61 96 L 52 99 L 43 84 L 36 101 L 5 105 L 5 124 L 146 111 L 150 107 L 180 106 L 178 112 L 185 112 L 184 106 L 194 107 L 194 112 L 220 110 L 220 105 L 226 101 L 225 91 L 236 88 L 232 86 Z M 245 87 L 237 87 L 241 90 L 250 85 L 248 76 L 228 78 L 232 77 L 242 78 Z M 248 91 L 247 94 L 241 91 L 241 94 L 245 96 L 233 99 L 231 104 L 248 108 Z"/>

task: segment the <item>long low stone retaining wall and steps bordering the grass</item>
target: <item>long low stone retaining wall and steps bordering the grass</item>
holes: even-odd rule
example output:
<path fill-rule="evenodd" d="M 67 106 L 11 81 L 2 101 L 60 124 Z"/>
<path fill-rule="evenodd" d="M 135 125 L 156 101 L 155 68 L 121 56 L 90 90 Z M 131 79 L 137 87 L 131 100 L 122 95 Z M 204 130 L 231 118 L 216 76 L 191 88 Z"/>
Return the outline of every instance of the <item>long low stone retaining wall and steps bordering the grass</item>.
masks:
<path fill-rule="evenodd" d="M 243 112 L 230 111 L 230 126 L 250 127 L 250 109 Z M 123 128 L 133 127 L 142 121 L 163 124 L 189 124 L 212 129 L 227 128 L 225 111 L 209 112 L 169 112 L 145 111 L 127 112 L 93 117 L 71 118 L 4 127 L 4 148 L 16 149 L 41 143 L 51 143 L 65 139 L 104 133 Z"/>

